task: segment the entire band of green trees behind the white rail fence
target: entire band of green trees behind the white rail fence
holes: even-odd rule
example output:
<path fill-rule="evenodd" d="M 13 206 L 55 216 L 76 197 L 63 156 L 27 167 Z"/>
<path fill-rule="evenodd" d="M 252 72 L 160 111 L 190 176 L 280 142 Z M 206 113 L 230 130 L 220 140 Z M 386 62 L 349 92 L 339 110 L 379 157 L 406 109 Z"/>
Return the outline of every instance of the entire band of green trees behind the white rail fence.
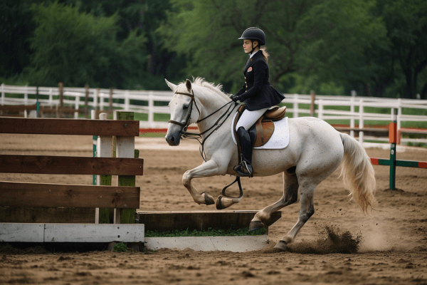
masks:
<path fill-rule="evenodd" d="M 4 0 L 0 83 L 168 90 L 243 84 L 241 36 L 263 28 L 283 93 L 427 98 L 424 0 Z"/>

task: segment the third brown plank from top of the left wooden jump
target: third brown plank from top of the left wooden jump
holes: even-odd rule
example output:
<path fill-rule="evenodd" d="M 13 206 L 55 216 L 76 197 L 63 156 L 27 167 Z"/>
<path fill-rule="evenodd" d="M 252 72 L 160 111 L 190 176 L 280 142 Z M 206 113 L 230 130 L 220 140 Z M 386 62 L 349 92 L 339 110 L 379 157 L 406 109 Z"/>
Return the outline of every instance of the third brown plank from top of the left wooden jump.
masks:
<path fill-rule="evenodd" d="M 138 208 L 139 187 L 0 182 L 0 206 Z"/>

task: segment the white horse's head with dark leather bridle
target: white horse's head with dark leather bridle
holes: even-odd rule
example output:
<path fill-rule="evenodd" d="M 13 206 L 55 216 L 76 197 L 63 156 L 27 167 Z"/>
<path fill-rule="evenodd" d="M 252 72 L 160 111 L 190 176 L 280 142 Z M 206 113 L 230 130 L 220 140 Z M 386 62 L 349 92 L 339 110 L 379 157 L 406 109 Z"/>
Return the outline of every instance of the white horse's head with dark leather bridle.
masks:
<path fill-rule="evenodd" d="M 174 85 L 165 79 L 169 88 L 174 91 L 174 97 L 169 102 L 171 120 L 167 128 L 166 141 L 169 145 L 179 145 L 182 133 L 192 123 L 196 123 L 200 110 L 196 105 L 191 81 Z"/>

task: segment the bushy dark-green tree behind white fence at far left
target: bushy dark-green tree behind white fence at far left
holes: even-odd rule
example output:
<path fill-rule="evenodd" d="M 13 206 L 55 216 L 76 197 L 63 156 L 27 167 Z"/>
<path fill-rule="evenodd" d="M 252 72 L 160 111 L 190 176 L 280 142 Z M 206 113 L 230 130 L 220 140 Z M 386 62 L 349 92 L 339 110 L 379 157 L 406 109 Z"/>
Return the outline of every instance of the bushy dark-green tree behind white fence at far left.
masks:
<path fill-rule="evenodd" d="M 132 88 L 144 77 L 146 38 L 135 30 L 117 41 L 117 15 L 94 16 L 58 2 L 32 10 L 37 28 L 26 69 L 31 84 Z"/>

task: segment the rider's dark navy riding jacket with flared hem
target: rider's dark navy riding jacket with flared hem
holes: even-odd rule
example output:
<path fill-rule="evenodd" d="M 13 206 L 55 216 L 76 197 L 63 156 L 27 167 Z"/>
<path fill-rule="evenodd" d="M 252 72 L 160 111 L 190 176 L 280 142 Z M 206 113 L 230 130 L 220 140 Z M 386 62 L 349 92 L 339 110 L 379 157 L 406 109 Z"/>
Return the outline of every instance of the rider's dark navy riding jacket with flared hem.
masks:
<path fill-rule="evenodd" d="M 263 57 L 262 51 L 258 51 L 249 58 L 243 69 L 245 84 L 236 93 L 238 100 L 245 103 L 246 109 L 260 110 L 278 105 L 285 96 L 273 88 L 268 81 L 270 77 L 268 64 Z"/>

